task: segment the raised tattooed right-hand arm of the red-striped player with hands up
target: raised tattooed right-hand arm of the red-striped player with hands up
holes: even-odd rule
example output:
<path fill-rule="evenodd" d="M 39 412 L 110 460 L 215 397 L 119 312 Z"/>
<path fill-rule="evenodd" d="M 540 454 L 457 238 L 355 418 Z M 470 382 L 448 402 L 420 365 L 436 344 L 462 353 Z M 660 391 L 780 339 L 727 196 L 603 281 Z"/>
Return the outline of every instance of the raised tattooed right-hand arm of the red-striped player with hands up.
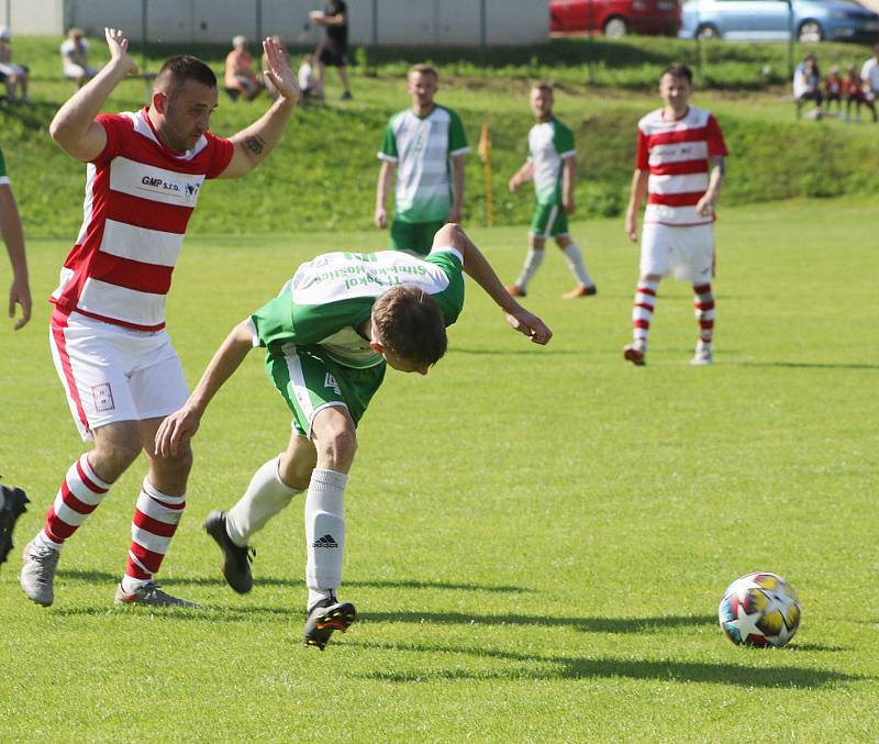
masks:
<path fill-rule="evenodd" d="M 230 137 L 235 148 L 232 152 L 232 160 L 220 178 L 240 178 L 265 160 L 280 142 L 290 114 L 299 100 L 299 87 L 280 44 L 271 37 L 266 38 L 263 42 L 263 51 L 268 62 L 268 67 L 264 71 L 277 89 L 278 99 L 257 121 Z"/>

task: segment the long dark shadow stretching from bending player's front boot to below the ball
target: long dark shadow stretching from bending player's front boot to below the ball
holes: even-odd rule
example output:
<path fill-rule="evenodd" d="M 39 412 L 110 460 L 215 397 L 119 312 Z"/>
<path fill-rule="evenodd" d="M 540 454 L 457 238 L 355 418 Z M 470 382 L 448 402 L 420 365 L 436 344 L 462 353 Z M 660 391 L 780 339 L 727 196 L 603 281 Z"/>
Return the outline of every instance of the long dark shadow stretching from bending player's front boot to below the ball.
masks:
<path fill-rule="evenodd" d="M 456 648 L 453 646 L 391 645 L 347 642 L 363 648 L 416 652 L 419 654 L 468 654 L 480 659 L 490 658 L 509 663 L 507 668 L 466 669 L 456 663 L 454 668 L 426 670 L 380 670 L 363 675 L 367 679 L 389 682 L 454 681 L 459 679 L 583 679 L 590 677 L 630 679 L 660 679 L 678 682 L 708 682 L 760 688 L 812 689 L 839 682 L 869 680 L 869 677 L 847 675 L 831 669 L 779 666 L 754 668 L 737 664 L 674 662 L 632 658 L 581 658 L 576 656 L 536 656 L 486 648 Z M 765 651 L 756 651 L 765 654 Z M 774 652 L 769 652 L 774 653 Z M 785 653 L 781 649 L 775 653 Z"/>

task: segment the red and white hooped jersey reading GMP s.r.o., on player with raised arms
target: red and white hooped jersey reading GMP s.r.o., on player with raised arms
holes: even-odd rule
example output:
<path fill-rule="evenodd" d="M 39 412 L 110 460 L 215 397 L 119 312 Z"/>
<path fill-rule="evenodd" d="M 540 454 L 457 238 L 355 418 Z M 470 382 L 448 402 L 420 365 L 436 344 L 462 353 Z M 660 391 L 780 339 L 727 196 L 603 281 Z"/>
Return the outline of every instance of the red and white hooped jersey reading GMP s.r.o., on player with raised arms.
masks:
<path fill-rule="evenodd" d="M 175 152 L 146 108 L 97 121 L 107 146 L 88 164 L 85 219 L 52 301 L 65 312 L 158 331 L 201 185 L 225 170 L 233 145 L 207 133 L 192 149 Z"/>

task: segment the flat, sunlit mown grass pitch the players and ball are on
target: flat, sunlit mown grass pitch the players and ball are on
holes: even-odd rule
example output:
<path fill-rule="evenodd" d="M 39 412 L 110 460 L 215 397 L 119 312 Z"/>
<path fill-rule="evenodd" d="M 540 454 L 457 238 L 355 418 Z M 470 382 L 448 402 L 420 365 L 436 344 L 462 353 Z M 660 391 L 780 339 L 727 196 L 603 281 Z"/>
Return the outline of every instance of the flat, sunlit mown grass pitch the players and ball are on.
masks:
<path fill-rule="evenodd" d="M 649 364 L 620 358 L 636 249 L 619 220 L 577 222 L 600 293 L 565 302 L 547 257 L 527 298 L 546 348 L 474 285 L 427 378 L 389 373 L 359 432 L 342 596 L 361 620 L 300 646 L 301 498 L 254 541 L 235 596 L 199 524 L 279 452 L 289 418 L 248 359 L 196 440 L 188 514 L 160 575 L 204 612 L 112 606 L 138 463 L 70 541 L 56 603 L 0 573 L 4 741 L 834 741 L 879 731 L 875 204 L 726 208 L 717 224 L 716 364 L 686 363 L 687 287 L 663 286 Z M 474 231 L 510 280 L 524 230 Z M 293 267 L 375 233 L 187 240 L 169 325 L 194 381 Z M 67 242 L 32 241 L 36 297 Z M 0 273 L 0 280 L 8 280 Z M 4 278 L 5 277 L 5 278 Z M 42 522 L 81 452 L 48 353 L 48 309 L 0 327 L 0 469 Z M 788 648 L 733 646 L 725 586 L 790 579 Z"/>

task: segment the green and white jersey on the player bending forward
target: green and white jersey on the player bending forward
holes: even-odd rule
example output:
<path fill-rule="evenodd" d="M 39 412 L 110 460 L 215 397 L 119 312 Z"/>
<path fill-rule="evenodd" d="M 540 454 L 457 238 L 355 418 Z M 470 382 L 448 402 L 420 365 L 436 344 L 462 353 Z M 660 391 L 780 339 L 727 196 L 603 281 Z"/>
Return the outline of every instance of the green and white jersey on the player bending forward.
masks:
<path fill-rule="evenodd" d="M 434 248 L 426 258 L 399 251 L 325 253 L 302 264 L 280 295 L 251 315 L 254 346 L 319 345 L 346 367 L 383 364 L 357 332 L 376 298 L 397 285 L 421 287 L 452 325 L 464 306 L 461 270 L 453 247 Z"/>

